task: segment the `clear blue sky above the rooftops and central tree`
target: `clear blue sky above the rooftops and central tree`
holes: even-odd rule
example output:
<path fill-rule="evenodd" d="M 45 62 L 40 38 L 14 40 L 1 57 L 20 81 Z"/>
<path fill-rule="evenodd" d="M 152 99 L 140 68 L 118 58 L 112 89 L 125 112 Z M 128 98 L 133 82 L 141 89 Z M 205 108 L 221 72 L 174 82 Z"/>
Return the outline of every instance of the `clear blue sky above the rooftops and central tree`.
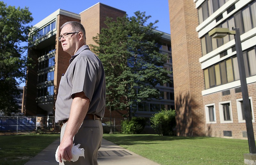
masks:
<path fill-rule="evenodd" d="M 170 34 L 168 0 L 4 0 L 7 6 L 28 7 L 34 18 L 32 25 L 43 20 L 59 8 L 79 14 L 98 2 L 123 10 L 128 14 L 128 17 L 133 16 L 136 11 L 146 12 L 147 16 L 152 16 L 149 19 L 150 22 L 159 20 L 156 24 L 158 26 L 157 30 Z"/>

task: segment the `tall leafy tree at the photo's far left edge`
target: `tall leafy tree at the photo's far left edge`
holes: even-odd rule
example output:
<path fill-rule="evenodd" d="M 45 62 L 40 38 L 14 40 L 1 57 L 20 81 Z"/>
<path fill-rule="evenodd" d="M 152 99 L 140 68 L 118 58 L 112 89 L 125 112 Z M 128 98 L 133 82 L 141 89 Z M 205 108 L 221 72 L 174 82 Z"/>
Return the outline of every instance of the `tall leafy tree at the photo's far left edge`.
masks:
<path fill-rule="evenodd" d="M 27 46 L 21 45 L 28 42 L 31 15 L 27 7 L 16 9 L 0 1 L 0 112 L 5 115 L 18 110 L 14 98 L 20 94 L 17 86 L 25 78 L 27 66 L 22 55 Z"/>

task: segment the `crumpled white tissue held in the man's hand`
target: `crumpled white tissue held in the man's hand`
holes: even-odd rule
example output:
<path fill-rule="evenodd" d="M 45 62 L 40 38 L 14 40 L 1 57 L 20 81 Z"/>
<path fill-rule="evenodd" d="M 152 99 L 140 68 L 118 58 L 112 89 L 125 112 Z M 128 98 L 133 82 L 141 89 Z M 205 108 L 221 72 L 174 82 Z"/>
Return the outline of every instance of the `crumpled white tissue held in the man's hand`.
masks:
<path fill-rule="evenodd" d="M 79 156 L 83 156 L 84 157 L 84 148 L 79 148 L 80 147 L 80 144 L 78 145 L 75 145 L 75 143 L 73 144 L 72 148 L 71 148 L 71 153 L 72 153 L 72 159 L 71 161 L 77 161 Z M 58 159 L 58 151 L 59 151 L 59 146 L 56 150 L 56 153 L 55 153 L 55 159 L 57 162 L 60 162 L 59 159 Z M 67 161 L 65 159 L 61 159 L 62 161 Z"/>

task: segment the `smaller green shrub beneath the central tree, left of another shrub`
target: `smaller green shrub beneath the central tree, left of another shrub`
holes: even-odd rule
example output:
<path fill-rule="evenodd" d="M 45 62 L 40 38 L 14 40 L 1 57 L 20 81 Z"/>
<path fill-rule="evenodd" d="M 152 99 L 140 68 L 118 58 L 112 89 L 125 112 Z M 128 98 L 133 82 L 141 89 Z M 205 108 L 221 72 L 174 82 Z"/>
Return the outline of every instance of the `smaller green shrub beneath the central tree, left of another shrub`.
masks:
<path fill-rule="evenodd" d="M 122 133 L 139 134 L 145 128 L 146 118 L 132 117 L 130 121 L 124 120 L 121 125 L 122 125 Z"/>

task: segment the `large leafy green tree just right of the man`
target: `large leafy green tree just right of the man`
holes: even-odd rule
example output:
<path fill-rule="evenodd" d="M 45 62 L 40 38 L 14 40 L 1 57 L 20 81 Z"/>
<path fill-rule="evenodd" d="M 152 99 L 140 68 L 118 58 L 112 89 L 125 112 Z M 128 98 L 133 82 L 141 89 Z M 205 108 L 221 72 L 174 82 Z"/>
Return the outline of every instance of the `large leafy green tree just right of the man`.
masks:
<path fill-rule="evenodd" d="M 135 16 L 107 18 L 107 28 L 93 37 L 98 45 L 90 45 L 103 63 L 106 75 L 106 105 L 127 110 L 129 119 L 132 105 L 143 100 L 159 98 L 154 88 L 170 80 L 163 66 L 166 55 L 159 53 L 162 33 L 154 31 L 157 20 L 145 25 L 151 16 L 135 12 Z"/>

